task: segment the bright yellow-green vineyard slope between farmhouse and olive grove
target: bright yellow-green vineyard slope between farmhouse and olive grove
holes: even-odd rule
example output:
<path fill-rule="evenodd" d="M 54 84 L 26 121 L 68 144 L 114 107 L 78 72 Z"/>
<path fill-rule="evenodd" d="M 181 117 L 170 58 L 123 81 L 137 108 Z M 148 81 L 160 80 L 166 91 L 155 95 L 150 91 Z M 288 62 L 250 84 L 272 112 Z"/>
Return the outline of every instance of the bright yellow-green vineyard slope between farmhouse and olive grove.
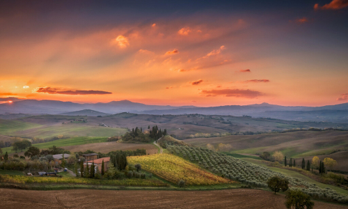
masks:
<path fill-rule="evenodd" d="M 181 157 L 167 154 L 128 157 L 128 162 L 141 164 L 142 169 L 150 171 L 171 183 L 185 180 L 187 185 L 216 185 L 232 183 L 231 180 L 221 178 L 207 171 L 203 171 L 195 164 L 187 162 Z"/>

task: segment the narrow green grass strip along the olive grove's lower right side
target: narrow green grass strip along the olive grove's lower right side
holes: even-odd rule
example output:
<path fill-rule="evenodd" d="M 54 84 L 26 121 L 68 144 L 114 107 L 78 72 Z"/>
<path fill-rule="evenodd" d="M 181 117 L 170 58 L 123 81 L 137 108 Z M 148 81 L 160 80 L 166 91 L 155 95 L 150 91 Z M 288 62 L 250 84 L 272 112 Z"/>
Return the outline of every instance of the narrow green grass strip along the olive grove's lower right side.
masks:
<path fill-rule="evenodd" d="M 267 167 L 267 163 L 264 162 L 263 160 L 255 160 L 255 159 L 251 159 L 251 158 L 244 158 L 243 160 L 246 161 L 246 162 L 251 162 L 253 164 L 258 164 L 260 166 Z M 287 170 L 287 169 L 281 169 L 281 168 L 276 168 L 276 167 L 268 167 L 268 168 L 271 169 L 272 171 L 283 173 L 286 176 L 291 176 L 291 177 L 294 177 L 294 178 L 300 178 L 302 180 L 306 180 L 308 183 L 315 184 L 318 187 L 321 187 L 322 189 L 325 189 L 325 188 L 329 187 L 331 189 L 334 189 L 336 192 L 348 195 L 348 190 L 342 189 L 340 187 L 335 187 L 333 185 L 326 185 L 326 184 L 323 184 L 323 183 L 319 183 L 316 180 L 313 180 L 312 178 L 309 178 L 308 176 L 304 176 L 303 174 L 298 173 L 296 171 L 290 171 L 290 170 Z"/>

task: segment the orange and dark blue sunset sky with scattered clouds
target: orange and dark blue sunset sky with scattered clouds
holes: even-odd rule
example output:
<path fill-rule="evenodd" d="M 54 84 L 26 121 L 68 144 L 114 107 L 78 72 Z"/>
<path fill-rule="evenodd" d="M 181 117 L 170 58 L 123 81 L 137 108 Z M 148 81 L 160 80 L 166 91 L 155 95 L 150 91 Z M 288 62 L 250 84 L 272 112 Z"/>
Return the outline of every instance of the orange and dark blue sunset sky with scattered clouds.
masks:
<path fill-rule="evenodd" d="M 345 103 L 347 20 L 347 0 L 0 1 L 0 100 Z"/>

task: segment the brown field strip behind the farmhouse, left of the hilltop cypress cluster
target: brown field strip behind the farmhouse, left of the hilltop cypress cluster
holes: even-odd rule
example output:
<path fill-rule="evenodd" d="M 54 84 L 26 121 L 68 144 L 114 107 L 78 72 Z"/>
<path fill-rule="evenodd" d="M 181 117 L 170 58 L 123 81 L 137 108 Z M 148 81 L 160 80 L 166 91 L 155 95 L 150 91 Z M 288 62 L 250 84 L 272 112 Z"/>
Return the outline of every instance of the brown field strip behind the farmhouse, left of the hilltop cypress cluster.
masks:
<path fill-rule="evenodd" d="M 117 141 L 93 143 L 93 144 L 81 144 L 74 146 L 63 146 L 65 150 L 74 152 L 84 152 L 86 150 L 93 150 L 97 153 L 109 153 L 115 150 L 136 150 L 145 149 L 148 154 L 157 153 L 157 147 L 154 144 L 132 144 L 132 143 L 118 143 Z"/>

